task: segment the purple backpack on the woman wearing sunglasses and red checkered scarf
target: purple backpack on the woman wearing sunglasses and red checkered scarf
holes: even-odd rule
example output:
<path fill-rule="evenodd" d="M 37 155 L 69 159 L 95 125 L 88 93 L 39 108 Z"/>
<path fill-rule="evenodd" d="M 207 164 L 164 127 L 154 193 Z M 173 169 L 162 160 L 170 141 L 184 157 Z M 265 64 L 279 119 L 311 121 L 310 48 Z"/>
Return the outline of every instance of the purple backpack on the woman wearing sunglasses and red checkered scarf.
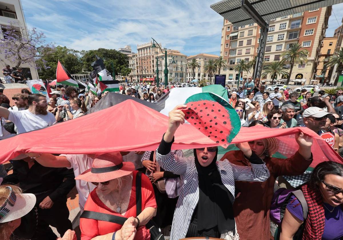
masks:
<path fill-rule="evenodd" d="M 281 222 L 286 211 L 286 206 L 289 199 L 291 199 L 292 194 L 297 198 L 303 207 L 304 220 L 307 218 L 308 206 L 301 189 L 291 190 L 280 188 L 274 193 L 272 204 L 270 206 L 270 220 L 272 220 L 278 226 L 281 226 Z"/>

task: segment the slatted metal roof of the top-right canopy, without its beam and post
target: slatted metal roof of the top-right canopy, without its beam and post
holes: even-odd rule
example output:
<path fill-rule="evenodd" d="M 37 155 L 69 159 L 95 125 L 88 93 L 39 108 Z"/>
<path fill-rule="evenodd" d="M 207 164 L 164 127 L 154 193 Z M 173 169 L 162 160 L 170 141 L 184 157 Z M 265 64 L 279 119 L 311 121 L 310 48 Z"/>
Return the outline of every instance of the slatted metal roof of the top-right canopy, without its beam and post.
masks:
<path fill-rule="evenodd" d="M 342 3 L 343 0 L 249 0 L 264 21 Z M 242 8 L 242 0 L 224 0 L 210 6 L 236 26 L 256 23 Z M 258 23 L 258 22 L 257 22 Z"/>

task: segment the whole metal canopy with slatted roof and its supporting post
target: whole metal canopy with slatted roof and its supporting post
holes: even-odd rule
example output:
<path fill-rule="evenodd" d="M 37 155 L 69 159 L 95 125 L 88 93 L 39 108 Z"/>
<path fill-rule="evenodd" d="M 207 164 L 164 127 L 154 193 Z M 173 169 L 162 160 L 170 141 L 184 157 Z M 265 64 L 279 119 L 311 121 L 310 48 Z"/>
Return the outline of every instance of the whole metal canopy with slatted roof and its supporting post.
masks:
<path fill-rule="evenodd" d="M 210 7 L 235 26 L 257 23 L 261 27 L 253 76 L 255 79 L 261 77 L 270 20 L 342 2 L 343 0 L 223 0 Z M 233 36 L 232 34 L 230 36 Z"/>

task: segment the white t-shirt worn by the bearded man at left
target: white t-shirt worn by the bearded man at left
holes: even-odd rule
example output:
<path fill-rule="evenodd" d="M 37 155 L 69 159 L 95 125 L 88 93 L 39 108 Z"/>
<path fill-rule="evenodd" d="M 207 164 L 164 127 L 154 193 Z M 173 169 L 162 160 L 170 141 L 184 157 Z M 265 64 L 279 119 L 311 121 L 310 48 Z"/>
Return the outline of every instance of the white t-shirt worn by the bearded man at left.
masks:
<path fill-rule="evenodd" d="M 48 112 L 47 115 L 36 115 L 31 113 L 28 109 L 22 111 L 9 111 L 10 115 L 8 116 L 8 120 L 16 125 L 18 134 L 48 127 L 56 122 L 55 116 L 51 112 Z"/>

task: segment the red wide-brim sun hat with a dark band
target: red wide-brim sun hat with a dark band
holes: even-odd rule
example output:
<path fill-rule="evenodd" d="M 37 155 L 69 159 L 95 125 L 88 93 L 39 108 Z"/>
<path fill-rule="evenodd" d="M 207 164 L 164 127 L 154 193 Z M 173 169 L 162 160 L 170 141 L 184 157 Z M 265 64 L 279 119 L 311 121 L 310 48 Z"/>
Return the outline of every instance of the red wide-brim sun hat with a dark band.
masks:
<path fill-rule="evenodd" d="M 120 152 L 104 153 L 96 155 L 92 168 L 84 171 L 75 179 L 86 182 L 106 182 L 129 175 L 133 170 L 133 163 L 123 162 Z"/>

